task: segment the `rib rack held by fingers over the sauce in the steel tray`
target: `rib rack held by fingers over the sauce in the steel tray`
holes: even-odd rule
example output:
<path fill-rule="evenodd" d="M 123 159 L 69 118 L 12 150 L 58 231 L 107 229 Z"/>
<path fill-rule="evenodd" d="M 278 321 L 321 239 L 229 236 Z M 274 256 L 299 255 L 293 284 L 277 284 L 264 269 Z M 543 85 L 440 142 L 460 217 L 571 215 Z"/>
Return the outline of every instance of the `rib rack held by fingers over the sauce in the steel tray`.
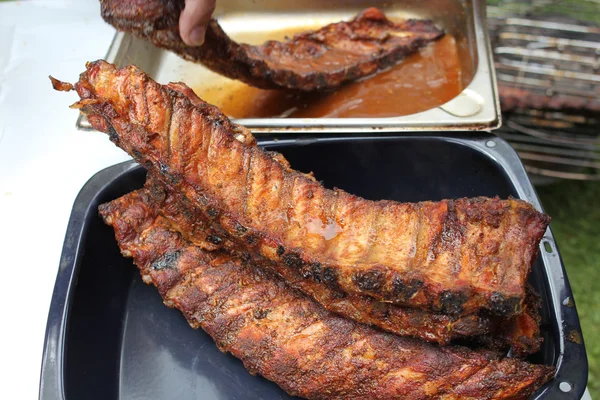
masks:
<path fill-rule="evenodd" d="M 261 88 L 331 89 L 371 75 L 443 36 L 431 21 L 393 23 L 376 8 L 349 22 L 327 25 L 286 42 L 260 46 L 231 40 L 212 20 L 201 47 L 179 36 L 183 0 L 101 0 L 103 18 L 183 58 Z"/>

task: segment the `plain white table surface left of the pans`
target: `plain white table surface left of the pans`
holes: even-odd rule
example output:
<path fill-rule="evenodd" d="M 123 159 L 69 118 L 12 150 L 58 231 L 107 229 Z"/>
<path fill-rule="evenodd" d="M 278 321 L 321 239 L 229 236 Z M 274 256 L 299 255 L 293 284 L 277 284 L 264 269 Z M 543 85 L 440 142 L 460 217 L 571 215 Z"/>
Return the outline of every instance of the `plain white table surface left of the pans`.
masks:
<path fill-rule="evenodd" d="M 75 128 L 75 82 L 114 30 L 98 0 L 0 3 L 0 399 L 38 396 L 48 307 L 71 206 L 96 172 L 129 159 Z M 589 398 L 589 397 L 587 397 Z"/>

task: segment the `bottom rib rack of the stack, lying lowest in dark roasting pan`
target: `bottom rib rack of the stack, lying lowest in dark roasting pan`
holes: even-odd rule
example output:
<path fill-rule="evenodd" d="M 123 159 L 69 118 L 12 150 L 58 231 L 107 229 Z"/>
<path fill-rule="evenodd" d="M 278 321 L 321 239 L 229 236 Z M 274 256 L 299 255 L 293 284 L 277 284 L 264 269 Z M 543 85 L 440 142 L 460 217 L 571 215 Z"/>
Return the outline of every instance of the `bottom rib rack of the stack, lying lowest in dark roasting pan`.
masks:
<path fill-rule="evenodd" d="M 553 368 L 438 347 L 341 318 L 268 273 L 168 229 L 144 191 L 100 207 L 165 304 L 251 373 L 309 399 L 525 399 Z"/>

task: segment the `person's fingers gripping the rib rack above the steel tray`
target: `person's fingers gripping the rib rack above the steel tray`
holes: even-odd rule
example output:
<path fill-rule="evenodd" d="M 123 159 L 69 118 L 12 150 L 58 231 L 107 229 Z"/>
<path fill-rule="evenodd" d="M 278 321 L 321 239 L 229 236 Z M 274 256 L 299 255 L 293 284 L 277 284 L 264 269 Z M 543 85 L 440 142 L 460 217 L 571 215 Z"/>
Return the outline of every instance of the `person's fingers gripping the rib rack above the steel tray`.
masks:
<path fill-rule="evenodd" d="M 179 34 L 185 44 L 200 46 L 204 43 L 215 3 L 216 0 L 185 0 L 185 8 L 179 17 Z"/>

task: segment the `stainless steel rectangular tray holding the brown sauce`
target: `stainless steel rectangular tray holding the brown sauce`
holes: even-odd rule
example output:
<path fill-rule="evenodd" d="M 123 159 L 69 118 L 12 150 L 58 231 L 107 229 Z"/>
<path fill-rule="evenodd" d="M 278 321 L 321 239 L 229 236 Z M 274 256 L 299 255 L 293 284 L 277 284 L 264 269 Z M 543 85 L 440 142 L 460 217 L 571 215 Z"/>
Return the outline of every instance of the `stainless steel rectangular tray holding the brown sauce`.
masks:
<path fill-rule="evenodd" d="M 352 18 L 377 6 L 392 18 L 433 20 L 458 45 L 465 89 L 447 103 L 420 113 L 392 118 L 252 118 L 236 122 L 255 133 L 482 130 L 500 126 L 500 106 L 488 40 L 485 3 L 478 0 L 220 0 L 215 16 L 240 42 L 281 39 L 283 30 L 302 30 Z M 203 89 L 226 79 L 202 65 L 181 59 L 129 34 L 117 33 L 106 56 L 118 66 L 137 65 L 161 83 L 182 81 L 202 97 Z M 401 95 L 398 101 L 402 101 Z M 78 127 L 91 129 L 81 117 Z"/>

